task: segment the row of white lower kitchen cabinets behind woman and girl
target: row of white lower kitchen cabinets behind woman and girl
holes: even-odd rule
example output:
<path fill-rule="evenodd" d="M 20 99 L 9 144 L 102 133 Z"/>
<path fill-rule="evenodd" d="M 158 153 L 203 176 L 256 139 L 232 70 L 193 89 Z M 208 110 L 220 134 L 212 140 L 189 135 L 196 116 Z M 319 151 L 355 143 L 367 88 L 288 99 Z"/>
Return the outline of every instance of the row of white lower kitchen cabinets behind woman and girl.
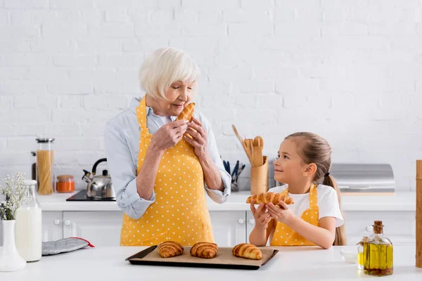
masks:
<path fill-rule="evenodd" d="M 384 233 L 393 244 L 415 243 L 414 211 L 345 211 L 344 215 L 347 245 L 371 235 L 373 221 L 383 221 Z M 122 211 L 43 211 L 42 240 L 82 237 L 95 246 L 117 246 L 122 218 Z M 220 247 L 248 242 L 255 226 L 250 211 L 210 211 L 210 218 Z"/>

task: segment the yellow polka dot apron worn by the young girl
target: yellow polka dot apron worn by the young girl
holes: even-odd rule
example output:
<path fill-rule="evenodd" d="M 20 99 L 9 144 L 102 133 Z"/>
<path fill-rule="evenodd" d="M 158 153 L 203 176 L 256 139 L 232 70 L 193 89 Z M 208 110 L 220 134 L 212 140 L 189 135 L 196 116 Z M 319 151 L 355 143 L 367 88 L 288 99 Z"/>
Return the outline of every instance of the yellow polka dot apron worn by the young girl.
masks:
<path fill-rule="evenodd" d="M 283 191 L 284 195 L 288 195 L 288 188 Z M 319 209 L 318 209 L 318 195 L 316 193 L 316 186 L 311 185 L 309 190 L 309 209 L 305 210 L 300 216 L 302 220 L 318 226 Z M 315 246 L 314 243 L 306 240 L 302 235 L 295 232 L 292 228 L 286 226 L 284 223 L 276 222 L 276 228 L 271 239 L 271 246 Z"/>

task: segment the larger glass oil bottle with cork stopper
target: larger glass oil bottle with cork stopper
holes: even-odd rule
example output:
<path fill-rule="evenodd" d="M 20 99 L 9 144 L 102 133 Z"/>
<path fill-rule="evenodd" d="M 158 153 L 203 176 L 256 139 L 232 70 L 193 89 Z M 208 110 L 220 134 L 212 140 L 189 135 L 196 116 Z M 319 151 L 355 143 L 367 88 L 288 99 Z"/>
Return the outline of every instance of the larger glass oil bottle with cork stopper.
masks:
<path fill-rule="evenodd" d="M 392 243 L 383 235 L 383 222 L 373 223 L 373 235 L 364 244 L 364 273 L 367 275 L 392 275 Z"/>

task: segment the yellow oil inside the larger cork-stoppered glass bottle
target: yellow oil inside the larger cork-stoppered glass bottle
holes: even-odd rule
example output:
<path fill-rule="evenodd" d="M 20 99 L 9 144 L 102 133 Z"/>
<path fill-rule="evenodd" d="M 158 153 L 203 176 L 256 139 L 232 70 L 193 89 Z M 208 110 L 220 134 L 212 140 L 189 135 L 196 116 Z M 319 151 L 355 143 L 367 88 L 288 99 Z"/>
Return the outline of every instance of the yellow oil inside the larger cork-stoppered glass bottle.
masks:
<path fill-rule="evenodd" d="M 365 244 L 366 259 L 364 259 L 364 272 L 369 275 L 392 274 L 392 245 L 391 244 Z"/>

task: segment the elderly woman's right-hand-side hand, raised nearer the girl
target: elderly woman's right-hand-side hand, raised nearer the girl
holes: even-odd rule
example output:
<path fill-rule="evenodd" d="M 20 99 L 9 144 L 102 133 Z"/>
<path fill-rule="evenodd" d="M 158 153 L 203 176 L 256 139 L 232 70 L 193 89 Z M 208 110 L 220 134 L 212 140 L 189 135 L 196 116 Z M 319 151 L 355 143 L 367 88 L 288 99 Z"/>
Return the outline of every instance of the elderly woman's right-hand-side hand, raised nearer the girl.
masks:
<path fill-rule="evenodd" d="M 187 143 L 193 146 L 193 152 L 195 155 L 201 160 L 207 157 L 208 153 L 208 138 L 207 138 L 207 131 L 205 131 L 204 127 L 200 123 L 198 119 L 195 117 L 192 118 L 191 123 L 188 124 L 188 129 L 186 134 L 191 136 L 184 136 L 184 139 Z"/>

